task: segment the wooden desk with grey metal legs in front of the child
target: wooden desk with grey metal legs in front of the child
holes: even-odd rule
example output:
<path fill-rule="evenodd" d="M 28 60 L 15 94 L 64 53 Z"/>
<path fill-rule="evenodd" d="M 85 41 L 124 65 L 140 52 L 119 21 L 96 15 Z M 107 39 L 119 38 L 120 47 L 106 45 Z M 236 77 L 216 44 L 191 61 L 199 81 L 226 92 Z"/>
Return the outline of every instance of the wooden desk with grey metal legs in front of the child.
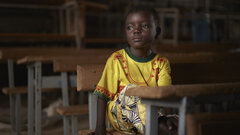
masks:
<path fill-rule="evenodd" d="M 136 87 L 126 91 L 128 96 L 141 97 L 146 104 L 146 129 L 145 135 L 157 135 L 158 133 L 158 107 L 171 107 L 179 110 L 179 135 L 186 134 L 186 111 L 189 99 L 194 98 L 215 98 L 219 102 L 226 101 L 227 95 L 240 94 L 240 82 L 216 83 L 216 84 L 188 84 L 172 85 L 162 87 Z M 216 97 L 216 95 L 218 95 Z M 216 99 L 214 99 L 216 100 Z M 236 100 L 232 98 L 231 100 Z M 230 100 L 230 101 L 231 101 Z M 202 100 L 204 103 L 211 103 L 211 100 Z M 216 101 L 215 101 L 216 102 Z"/>

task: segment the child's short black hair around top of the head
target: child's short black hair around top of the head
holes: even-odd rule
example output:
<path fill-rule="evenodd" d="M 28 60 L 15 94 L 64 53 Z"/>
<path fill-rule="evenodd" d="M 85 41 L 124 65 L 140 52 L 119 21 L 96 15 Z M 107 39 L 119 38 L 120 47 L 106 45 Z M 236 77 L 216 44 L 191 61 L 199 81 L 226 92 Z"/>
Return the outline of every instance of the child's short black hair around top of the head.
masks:
<path fill-rule="evenodd" d="M 156 36 L 157 38 L 161 33 L 161 27 L 160 27 L 160 20 L 157 11 L 154 8 L 146 7 L 146 6 L 134 6 L 130 8 L 130 10 L 126 13 L 124 21 L 126 22 L 127 17 L 129 14 L 134 12 L 146 12 L 153 16 L 154 23 L 156 25 Z"/>

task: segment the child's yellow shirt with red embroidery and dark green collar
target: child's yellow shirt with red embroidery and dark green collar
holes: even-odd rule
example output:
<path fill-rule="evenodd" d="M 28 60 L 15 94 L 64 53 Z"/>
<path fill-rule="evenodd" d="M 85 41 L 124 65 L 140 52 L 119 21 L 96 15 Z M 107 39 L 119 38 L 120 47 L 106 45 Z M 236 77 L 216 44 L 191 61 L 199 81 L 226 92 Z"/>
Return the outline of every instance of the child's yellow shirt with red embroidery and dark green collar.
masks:
<path fill-rule="evenodd" d="M 128 84 L 170 85 L 170 64 L 167 58 L 155 53 L 146 58 L 135 57 L 129 48 L 116 51 L 108 58 L 94 94 L 109 101 Z"/>

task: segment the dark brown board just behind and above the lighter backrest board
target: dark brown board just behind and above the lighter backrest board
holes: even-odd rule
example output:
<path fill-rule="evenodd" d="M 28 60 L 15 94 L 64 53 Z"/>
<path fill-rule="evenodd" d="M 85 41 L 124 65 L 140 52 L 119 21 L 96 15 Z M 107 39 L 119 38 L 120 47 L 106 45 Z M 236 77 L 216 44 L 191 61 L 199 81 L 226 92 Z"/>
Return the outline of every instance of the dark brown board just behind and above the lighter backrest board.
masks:
<path fill-rule="evenodd" d="M 105 64 L 108 57 L 108 54 L 102 54 L 56 58 L 53 62 L 53 70 L 54 72 L 76 72 L 79 64 Z"/>

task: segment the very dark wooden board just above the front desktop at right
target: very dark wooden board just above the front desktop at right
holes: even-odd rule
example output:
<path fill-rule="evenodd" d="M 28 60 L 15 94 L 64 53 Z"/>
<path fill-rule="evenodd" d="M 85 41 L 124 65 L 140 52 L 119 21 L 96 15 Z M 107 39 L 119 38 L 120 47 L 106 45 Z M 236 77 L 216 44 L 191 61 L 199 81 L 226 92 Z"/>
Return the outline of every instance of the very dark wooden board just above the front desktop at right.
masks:
<path fill-rule="evenodd" d="M 171 64 L 173 84 L 240 82 L 240 62 Z"/>

